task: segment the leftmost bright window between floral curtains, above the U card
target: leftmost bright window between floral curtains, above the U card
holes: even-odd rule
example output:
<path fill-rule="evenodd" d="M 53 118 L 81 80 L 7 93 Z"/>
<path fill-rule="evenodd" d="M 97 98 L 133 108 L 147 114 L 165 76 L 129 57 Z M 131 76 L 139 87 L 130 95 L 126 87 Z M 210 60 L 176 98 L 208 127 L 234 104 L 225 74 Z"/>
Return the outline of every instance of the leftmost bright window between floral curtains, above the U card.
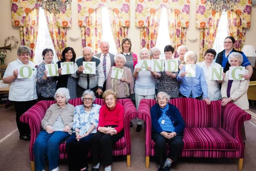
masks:
<path fill-rule="evenodd" d="M 54 52 L 53 62 L 56 63 L 58 60 L 57 55 L 54 50 L 53 42 L 49 33 L 47 26 L 47 21 L 45 18 L 45 11 L 42 8 L 39 8 L 39 25 L 38 25 L 38 35 L 37 35 L 37 44 L 35 48 L 35 57 L 34 63 L 40 64 L 43 61 L 42 52 L 45 48 L 51 48 Z"/>

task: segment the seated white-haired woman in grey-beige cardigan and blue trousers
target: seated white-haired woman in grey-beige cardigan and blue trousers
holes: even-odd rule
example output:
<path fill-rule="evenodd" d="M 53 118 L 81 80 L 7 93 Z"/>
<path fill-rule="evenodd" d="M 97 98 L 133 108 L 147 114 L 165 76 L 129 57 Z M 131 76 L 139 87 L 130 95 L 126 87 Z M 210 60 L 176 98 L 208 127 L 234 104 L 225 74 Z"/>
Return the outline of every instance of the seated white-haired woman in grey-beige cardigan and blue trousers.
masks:
<path fill-rule="evenodd" d="M 59 88 L 54 99 L 57 103 L 47 109 L 41 122 L 43 130 L 33 146 L 36 171 L 44 171 L 46 156 L 50 171 L 59 171 L 59 144 L 72 132 L 75 107 L 67 103 L 69 90 Z"/>

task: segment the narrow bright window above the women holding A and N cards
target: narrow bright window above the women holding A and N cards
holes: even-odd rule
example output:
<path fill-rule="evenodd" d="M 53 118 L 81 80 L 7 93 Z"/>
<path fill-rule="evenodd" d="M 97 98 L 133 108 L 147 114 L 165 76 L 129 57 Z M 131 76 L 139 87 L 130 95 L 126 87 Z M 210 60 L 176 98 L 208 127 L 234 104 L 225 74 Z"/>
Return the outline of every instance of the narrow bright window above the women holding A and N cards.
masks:
<path fill-rule="evenodd" d="M 158 28 L 158 36 L 156 39 L 156 47 L 161 50 L 160 58 L 165 59 L 165 46 L 171 44 L 168 30 L 169 22 L 167 18 L 167 8 L 162 8 L 160 25 Z"/>

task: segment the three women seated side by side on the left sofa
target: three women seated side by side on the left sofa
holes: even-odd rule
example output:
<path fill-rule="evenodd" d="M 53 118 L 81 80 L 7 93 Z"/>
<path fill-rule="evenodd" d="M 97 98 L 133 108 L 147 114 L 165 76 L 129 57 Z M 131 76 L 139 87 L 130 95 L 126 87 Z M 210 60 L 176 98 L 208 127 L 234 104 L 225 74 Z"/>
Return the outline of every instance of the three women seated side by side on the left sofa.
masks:
<path fill-rule="evenodd" d="M 124 107 L 117 103 L 115 91 L 106 90 L 105 105 L 94 104 L 95 94 L 85 90 L 81 95 L 83 105 L 69 104 L 69 90 L 57 89 L 51 105 L 41 122 L 42 131 L 33 146 L 35 167 L 44 171 L 45 159 L 51 171 L 59 171 L 59 145 L 66 140 L 69 170 L 88 171 L 87 154 L 91 149 L 92 170 L 98 171 L 102 154 L 105 171 L 111 171 L 112 147 L 124 136 Z M 70 135 L 70 136 L 69 136 Z"/>

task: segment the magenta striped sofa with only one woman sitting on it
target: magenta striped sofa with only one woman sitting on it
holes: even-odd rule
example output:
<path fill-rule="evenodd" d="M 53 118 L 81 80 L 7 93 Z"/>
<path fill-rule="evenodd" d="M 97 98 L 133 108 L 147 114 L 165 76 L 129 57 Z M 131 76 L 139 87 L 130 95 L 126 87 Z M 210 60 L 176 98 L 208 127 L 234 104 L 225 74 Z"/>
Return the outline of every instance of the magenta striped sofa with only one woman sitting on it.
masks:
<path fill-rule="evenodd" d="M 221 107 L 221 101 L 205 101 L 192 98 L 171 99 L 185 121 L 184 147 L 181 157 L 236 158 L 238 170 L 242 170 L 244 143 L 241 125 L 251 116 L 234 103 Z M 155 100 L 142 99 L 138 118 L 145 121 L 146 167 L 149 157 L 154 156 L 154 141 L 151 139 L 150 109 Z"/>

